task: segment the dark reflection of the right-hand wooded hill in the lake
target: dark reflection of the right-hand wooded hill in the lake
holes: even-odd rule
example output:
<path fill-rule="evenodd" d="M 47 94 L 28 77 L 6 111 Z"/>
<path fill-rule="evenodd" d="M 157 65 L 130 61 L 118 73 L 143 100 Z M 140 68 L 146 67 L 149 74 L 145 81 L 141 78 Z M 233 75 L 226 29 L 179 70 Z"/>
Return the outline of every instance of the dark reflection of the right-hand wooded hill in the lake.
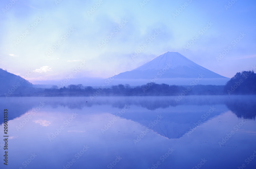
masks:
<path fill-rule="evenodd" d="M 237 117 L 255 120 L 256 96 L 239 96 L 236 99 L 228 99 L 225 104 Z"/>

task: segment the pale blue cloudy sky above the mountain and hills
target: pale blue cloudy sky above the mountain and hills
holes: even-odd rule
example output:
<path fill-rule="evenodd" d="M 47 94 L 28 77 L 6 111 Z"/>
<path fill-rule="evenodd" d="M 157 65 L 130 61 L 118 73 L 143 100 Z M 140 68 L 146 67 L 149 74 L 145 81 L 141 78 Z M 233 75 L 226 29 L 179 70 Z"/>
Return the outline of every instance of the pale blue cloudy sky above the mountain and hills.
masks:
<path fill-rule="evenodd" d="M 32 83 L 71 73 L 108 78 L 167 51 L 229 78 L 256 63 L 252 0 L 3 0 L 0 7 L 0 67 L 22 77 L 32 70 L 26 76 Z M 82 61 L 86 64 L 79 66 Z"/>

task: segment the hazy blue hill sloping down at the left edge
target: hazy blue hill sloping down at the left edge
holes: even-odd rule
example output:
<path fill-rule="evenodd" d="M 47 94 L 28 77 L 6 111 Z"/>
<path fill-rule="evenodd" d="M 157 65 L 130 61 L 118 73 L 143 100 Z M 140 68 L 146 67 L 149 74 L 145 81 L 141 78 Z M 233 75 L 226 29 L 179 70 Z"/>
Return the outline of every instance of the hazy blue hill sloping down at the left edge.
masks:
<path fill-rule="evenodd" d="M 21 88 L 24 89 L 30 87 L 32 87 L 32 83 L 30 83 L 26 79 L 9 73 L 6 70 L 0 68 L 0 95 L 3 95 L 5 93 L 9 95 L 10 93 L 16 94 L 21 90 Z"/>

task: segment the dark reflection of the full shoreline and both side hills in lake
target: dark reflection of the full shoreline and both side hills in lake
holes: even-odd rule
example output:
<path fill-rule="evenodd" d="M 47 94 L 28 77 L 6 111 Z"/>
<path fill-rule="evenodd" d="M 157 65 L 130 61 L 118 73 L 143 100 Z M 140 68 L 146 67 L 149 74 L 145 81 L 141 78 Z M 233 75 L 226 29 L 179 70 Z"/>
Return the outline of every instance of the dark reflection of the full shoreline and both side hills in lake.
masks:
<path fill-rule="evenodd" d="M 175 97 L 97 97 L 93 101 L 89 97 L 36 97 L 36 98 L 1 98 L 0 108 L 9 109 L 9 120 L 19 117 L 28 110 L 35 108 L 44 101 L 46 106 L 52 108 L 67 107 L 69 109 L 82 109 L 94 105 L 112 105 L 117 108 L 124 108 L 126 104 L 144 107 L 148 110 L 157 108 L 168 108 L 177 105 L 216 105 L 225 104 L 239 118 L 255 119 L 256 117 L 256 96 L 187 96 L 180 102 L 175 102 Z M 86 102 L 87 101 L 87 102 Z"/>

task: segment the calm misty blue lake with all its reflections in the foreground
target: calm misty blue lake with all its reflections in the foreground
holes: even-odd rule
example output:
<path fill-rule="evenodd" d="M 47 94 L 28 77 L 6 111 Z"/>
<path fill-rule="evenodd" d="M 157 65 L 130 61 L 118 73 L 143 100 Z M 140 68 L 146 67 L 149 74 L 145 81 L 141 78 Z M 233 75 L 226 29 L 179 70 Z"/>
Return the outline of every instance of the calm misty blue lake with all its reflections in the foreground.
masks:
<path fill-rule="evenodd" d="M 0 101 L 1 168 L 256 168 L 256 96 Z"/>

